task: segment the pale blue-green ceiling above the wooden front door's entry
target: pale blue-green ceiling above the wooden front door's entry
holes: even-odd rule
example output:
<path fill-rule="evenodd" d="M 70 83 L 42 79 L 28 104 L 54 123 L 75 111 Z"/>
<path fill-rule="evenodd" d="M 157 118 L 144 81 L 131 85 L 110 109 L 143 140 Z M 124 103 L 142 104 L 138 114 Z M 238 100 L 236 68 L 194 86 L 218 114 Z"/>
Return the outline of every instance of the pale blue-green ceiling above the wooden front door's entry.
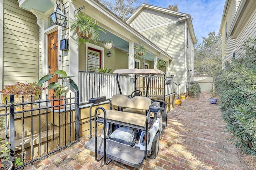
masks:
<path fill-rule="evenodd" d="M 34 9 L 42 13 L 46 12 L 53 6 L 50 0 L 20 0 L 18 2 L 21 8 L 28 11 Z"/>

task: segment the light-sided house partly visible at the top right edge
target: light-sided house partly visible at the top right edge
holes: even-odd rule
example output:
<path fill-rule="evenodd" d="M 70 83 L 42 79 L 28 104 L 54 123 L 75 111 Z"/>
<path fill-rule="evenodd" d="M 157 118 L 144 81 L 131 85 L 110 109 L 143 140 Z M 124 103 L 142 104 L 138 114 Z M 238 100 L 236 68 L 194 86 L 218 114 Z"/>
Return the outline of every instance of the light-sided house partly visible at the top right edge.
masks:
<path fill-rule="evenodd" d="M 222 63 L 242 52 L 248 37 L 256 37 L 256 1 L 226 0 L 219 34 L 222 34 Z"/>

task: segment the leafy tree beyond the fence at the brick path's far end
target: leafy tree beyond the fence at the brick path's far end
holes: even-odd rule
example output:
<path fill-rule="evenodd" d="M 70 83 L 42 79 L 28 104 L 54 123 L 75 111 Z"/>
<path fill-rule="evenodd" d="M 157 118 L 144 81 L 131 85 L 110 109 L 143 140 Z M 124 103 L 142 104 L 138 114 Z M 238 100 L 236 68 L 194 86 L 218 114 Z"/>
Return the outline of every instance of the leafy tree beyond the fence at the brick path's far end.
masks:
<path fill-rule="evenodd" d="M 222 69 L 221 36 L 210 32 L 202 39 L 202 44 L 194 48 L 194 72 L 195 75 L 214 76 Z"/>

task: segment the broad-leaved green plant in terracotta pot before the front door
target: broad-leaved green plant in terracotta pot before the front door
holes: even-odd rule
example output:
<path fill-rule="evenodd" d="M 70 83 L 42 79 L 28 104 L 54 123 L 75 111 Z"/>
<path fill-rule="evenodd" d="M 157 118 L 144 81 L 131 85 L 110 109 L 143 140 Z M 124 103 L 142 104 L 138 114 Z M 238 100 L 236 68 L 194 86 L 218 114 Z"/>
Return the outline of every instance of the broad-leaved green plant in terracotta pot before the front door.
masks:
<path fill-rule="evenodd" d="M 78 90 L 76 83 L 71 79 L 71 77 L 74 77 L 74 76 L 68 76 L 66 71 L 63 71 L 63 70 L 56 70 L 54 74 L 45 75 L 38 81 L 38 83 L 44 83 L 46 81 L 49 81 L 56 74 L 59 76 L 58 82 L 52 82 L 47 87 L 48 89 L 54 90 L 54 92 L 56 93 L 56 97 L 60 97 L 60 95 L 64 95 L 64 89 L 68 86 L 68 84 L 64 85 L 64 82 L 66 79 L 68 79 L 70 87 L 72 87 L 74 90 Z M 60 80 L 62 81 L 60 82 Z"/>

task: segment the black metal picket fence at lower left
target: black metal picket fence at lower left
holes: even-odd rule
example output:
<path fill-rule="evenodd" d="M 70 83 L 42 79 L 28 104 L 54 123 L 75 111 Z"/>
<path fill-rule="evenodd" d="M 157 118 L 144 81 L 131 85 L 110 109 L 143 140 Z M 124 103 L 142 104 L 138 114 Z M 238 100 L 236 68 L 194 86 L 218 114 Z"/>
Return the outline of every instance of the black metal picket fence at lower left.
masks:
<path fill-rule="evenodd" d="M 71 94 L 69 95 L 71 96 Z M 34 100 L 9 95 L 0 105 L 0 151 L 10 148 L 14 169 L 55 153 L 79 140 L 79 92 L 75 97 Z"/>

